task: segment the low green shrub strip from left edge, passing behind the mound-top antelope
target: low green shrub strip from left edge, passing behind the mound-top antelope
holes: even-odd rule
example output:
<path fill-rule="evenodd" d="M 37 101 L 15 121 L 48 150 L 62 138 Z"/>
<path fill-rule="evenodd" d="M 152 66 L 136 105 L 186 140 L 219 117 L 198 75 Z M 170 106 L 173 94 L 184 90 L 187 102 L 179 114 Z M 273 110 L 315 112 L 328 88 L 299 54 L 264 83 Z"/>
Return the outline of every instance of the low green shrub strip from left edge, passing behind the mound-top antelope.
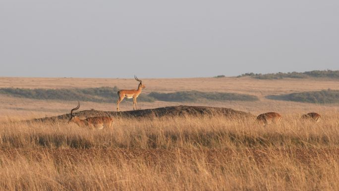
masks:
<path fill-rule="evenodd" d="M 15 97 L 42 99 L 42 100 L 79 100 L 91 102 L 113 103 L 117 100 L 116 86 L 99 88 L 70 88 L 70 89 L 25 89 L 25 88 L 0 88 L 0 94 Z M 130 100 L 131 101 L 131 100 Z M 138 101 L 153 102 L 154 99 L 140 94 Z"/>

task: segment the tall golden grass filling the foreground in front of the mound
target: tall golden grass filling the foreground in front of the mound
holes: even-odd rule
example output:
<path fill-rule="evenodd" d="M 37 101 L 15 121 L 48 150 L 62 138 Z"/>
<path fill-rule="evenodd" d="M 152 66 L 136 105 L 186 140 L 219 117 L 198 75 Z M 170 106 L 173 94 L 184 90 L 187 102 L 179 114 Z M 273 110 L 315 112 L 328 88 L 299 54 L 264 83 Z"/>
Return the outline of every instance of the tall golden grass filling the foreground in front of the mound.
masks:
<path fill-rule="evenodd" d="M 115 119 L 112 129 L 0 124 L 0 190 L 339 190 L 339 118 Z"/>

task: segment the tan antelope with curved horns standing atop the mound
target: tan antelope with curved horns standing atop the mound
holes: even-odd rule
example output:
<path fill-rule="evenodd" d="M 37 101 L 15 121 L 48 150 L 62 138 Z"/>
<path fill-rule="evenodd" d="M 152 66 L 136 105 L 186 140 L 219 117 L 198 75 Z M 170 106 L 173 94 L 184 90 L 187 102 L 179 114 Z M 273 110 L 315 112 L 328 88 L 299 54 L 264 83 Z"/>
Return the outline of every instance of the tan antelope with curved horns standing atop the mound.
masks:
<path fill-rule="evenodd" d="M 137 76 L 134 75 L 134 79 L 139 81 L 139 85 L 138 85 L 138 89 L 131 89 L 131 90 L 119 90 L 117 92 L 118 94 L 118 101 L 116 102 L 116 111 L 119 111 L 119 103 L 124 99 L 131 99 L 133 98 L 133 110 L 138 109 L 138 104 L 136 99 L 138 98 L 138 96 L 141 93 L 141 89 L 146 88 L 146 86 L 144 84 L 142 84 L 142 81 L 140 79 L 137 78 Z"/>

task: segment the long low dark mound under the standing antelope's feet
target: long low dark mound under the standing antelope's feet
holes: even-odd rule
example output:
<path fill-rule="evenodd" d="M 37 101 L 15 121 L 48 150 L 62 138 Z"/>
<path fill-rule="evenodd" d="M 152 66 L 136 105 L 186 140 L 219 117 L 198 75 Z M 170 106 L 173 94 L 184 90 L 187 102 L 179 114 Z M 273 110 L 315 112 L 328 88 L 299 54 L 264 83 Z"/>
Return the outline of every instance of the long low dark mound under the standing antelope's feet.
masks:
<path fill-rule="evenodd" d="M 124 111 L 124 112 L 109 112 L 98 110 L 85 110 L 75 113 L 80 118 L 88 118 L 95 116 L 110 116 L 124 118 L 140 118 L 140 117 L 175 117 L 175 116 L 197 116 L 197 115 L 221 115 L 227 118 L 247 118 L 254 117 L 250 113 L 235 111 L 229 108 L 214 108 L 204 106 L 170 106 L 155 109 Z M 70 118 L 70 114 L 64 114 L 56 117 L 47 117 L 34 119 L 33 121 L 66 121 Z"/>

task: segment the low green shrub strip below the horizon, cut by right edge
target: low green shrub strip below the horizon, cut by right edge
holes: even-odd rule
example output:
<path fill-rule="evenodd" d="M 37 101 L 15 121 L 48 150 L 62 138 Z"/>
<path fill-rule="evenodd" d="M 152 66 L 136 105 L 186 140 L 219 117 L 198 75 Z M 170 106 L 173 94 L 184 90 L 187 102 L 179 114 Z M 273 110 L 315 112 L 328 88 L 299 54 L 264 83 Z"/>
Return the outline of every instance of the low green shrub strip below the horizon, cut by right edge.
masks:
<path fill-rule="evenodd" d="M 270 95 L 266 97 L 268 99 L 274 100 L 329 104 L 329 103 L 339 103 L 339 90 L 328 89 L 321 91 L 309 91 L 283 95 Z"/>

